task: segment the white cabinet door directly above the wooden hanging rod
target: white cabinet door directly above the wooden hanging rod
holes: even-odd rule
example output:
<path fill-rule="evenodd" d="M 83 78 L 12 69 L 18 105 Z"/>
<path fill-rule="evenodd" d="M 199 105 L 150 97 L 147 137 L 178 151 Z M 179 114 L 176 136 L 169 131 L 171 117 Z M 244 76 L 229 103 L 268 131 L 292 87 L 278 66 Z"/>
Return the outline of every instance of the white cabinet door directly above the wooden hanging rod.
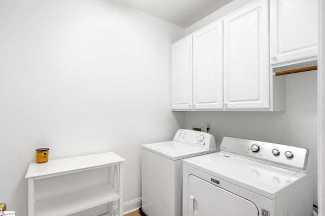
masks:
<path fill-rule="evenodd" d="M 270 1 L 271 64 L 316 57 L 317 2 Z"/>

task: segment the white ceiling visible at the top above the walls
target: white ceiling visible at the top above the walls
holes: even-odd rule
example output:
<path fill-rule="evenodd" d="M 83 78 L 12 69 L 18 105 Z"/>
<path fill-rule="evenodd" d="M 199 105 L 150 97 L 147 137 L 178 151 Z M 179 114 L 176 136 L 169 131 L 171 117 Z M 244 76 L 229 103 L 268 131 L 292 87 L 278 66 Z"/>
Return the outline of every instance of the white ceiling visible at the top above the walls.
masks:
<path fill-rule="evenodd" d="M 115 0 L 187 28 L 233 0 Z"/>

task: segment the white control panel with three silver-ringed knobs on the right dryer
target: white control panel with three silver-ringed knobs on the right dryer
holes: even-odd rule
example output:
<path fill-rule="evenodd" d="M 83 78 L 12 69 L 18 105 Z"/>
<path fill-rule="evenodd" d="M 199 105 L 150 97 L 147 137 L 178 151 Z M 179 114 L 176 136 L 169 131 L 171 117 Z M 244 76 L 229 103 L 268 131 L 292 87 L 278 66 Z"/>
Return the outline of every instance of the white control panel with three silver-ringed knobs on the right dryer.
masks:
<path fill-rule="evenodd" d="M 233 137 L 223 138 L 220 151 L 297 171 L 307 168 L 309 155 L 306 148 Z"/>

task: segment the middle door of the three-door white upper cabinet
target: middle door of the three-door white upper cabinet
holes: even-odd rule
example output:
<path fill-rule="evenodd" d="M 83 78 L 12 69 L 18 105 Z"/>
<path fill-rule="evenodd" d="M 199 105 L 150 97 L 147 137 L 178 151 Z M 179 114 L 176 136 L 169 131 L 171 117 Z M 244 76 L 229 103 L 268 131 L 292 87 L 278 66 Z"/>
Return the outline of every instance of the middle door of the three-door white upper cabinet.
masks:
<path fill-rule="evenodd" d="M 222 21 L 193 34 L 193 108 L 223 108 Z"/>

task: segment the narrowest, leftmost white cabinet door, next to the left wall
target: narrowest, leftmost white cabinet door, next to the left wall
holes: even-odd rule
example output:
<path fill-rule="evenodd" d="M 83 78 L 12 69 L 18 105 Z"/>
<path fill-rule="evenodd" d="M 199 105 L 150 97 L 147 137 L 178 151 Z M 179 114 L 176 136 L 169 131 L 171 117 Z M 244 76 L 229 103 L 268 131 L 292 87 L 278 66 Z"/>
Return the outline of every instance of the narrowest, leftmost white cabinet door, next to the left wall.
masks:
<path fill-rule="evenodd" d="M 192 109 L 192 36 L 172 45 L 172 109 Z"/>

